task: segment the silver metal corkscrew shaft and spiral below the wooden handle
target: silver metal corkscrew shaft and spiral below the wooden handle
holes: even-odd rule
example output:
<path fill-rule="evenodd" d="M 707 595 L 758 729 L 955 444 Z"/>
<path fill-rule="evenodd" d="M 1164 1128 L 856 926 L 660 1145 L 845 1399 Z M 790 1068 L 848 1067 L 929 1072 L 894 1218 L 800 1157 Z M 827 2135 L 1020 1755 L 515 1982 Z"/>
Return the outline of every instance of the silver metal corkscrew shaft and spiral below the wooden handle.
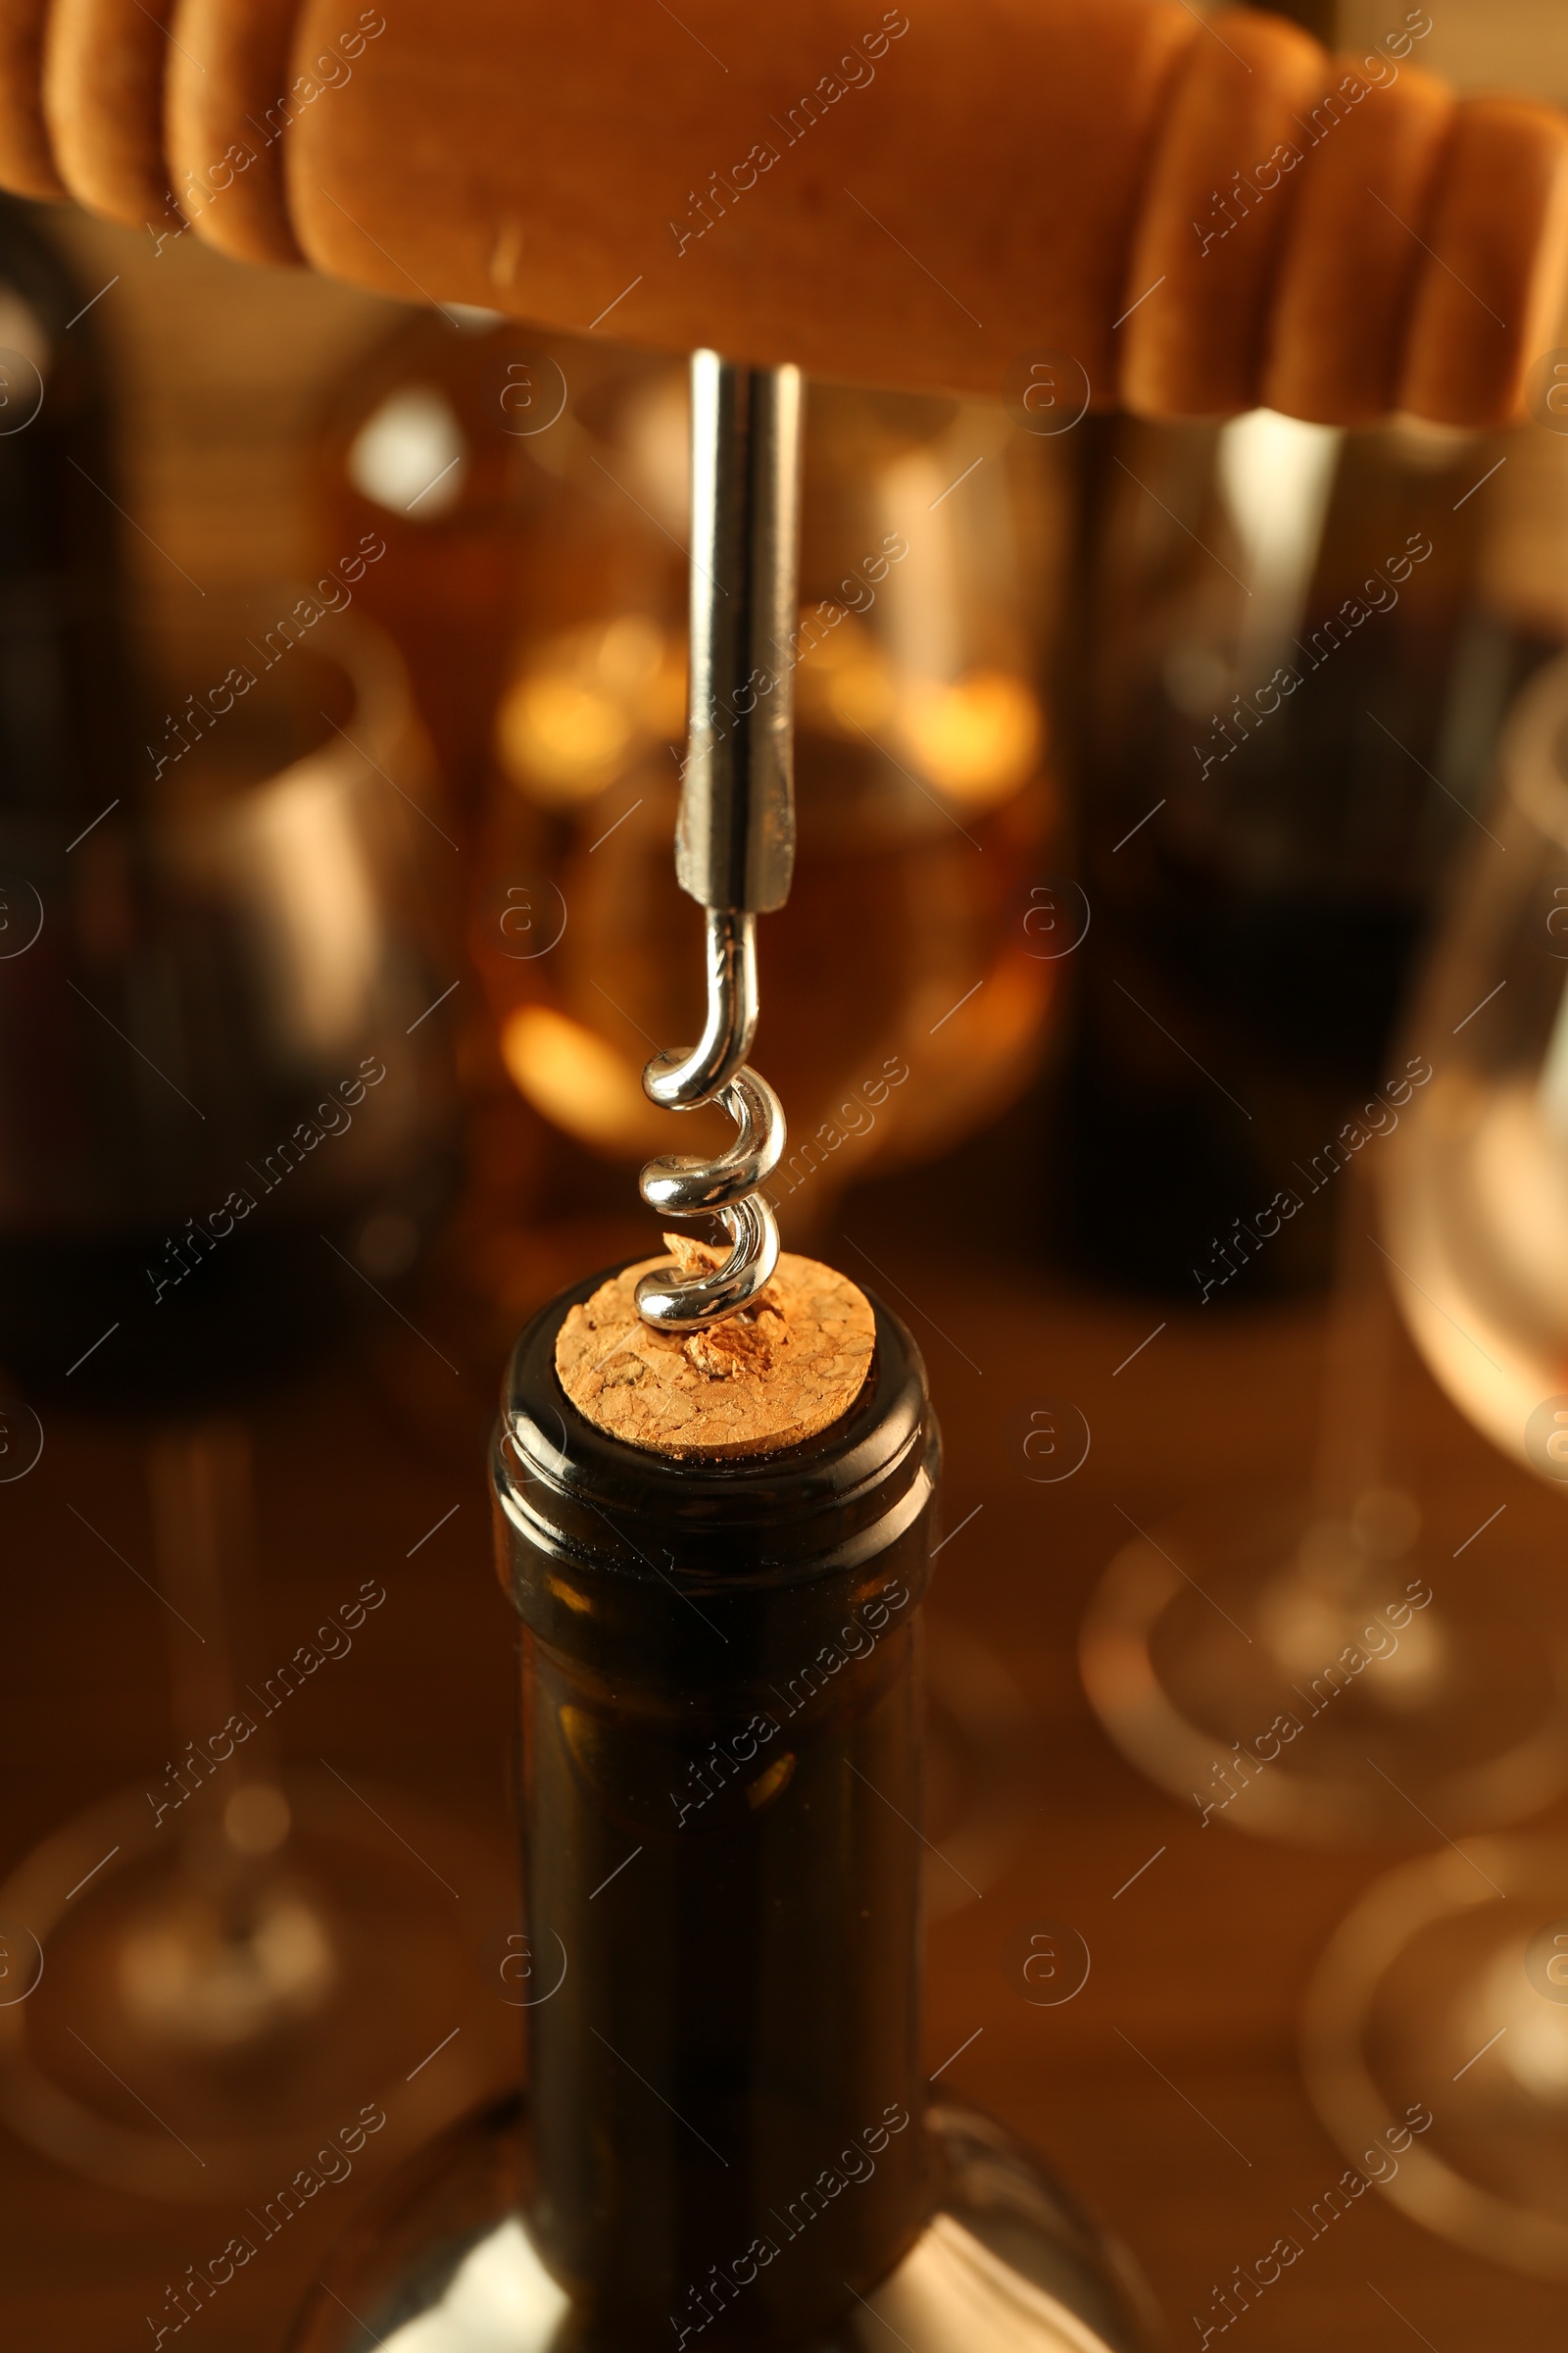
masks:
<path fill-rule="evenodd" d="M 705 1275 L 658 1268 L 637 1311 L 663 1332 L 733 1315 L 778 1266 L 762 1186 L 785 1118 L 745 1056 L 757 1033 L 757 915 L 795 871 L 795 664 L 799 544 L 797 367 L 691 358 L 691 718 L 675 875 L 708 911 L 708 1021 L 684 1054 L 656 1054 L 644 1092 L 665 1111 L 722 1104 L 736 1141 L 715 1160 L 649 1160 L 642 1198 L 670 1217 L 710 1212 L 729 1257 Z"/>

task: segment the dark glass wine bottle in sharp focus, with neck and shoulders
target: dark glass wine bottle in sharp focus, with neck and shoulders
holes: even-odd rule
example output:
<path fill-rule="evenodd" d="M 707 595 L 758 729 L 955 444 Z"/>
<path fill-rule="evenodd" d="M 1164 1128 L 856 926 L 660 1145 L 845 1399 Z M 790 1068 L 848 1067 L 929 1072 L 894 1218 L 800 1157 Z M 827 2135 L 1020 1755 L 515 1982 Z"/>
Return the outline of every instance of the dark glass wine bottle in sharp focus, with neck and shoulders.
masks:
<path fill-rule="evenodd" d="M 788 1261 L 785 1261 L 788 1264 Z M 1131 2348 L 1138 2289 L 919 2068 L 919 1605 L 940 1440 L 875 1308 L 851 1409 L 679 1461 L 517 1344 L 494 1452 L 522 1617 L 527 2108 L 393 2181 L 296 2353 Z"/>

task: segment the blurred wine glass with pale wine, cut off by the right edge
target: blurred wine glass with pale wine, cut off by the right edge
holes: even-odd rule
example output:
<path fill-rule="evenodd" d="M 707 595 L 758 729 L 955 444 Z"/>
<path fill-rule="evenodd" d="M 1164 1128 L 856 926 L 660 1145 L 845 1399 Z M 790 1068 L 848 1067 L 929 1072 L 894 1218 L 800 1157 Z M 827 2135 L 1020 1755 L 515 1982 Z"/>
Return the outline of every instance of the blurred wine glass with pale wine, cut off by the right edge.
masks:
<path fill-rule="evenodd" d="M 1568 661 L 1509 715 L 1488 828 L 1415 1005 L 1432 1082 L 1382 1165 L 1382 1228 L 1439 1384 L 1514 1464 L 1561 1487 Z M 1450 1845 L 1375 1882 L 1319 1965 L 1305 2066 L 1347 2153 L 1368 2146 L 1373 2120 L 1429 2101 L 1432 2125 L 1387 2195 L 1458 2245 L 1568 2280 L 1561 1835 Z"/>

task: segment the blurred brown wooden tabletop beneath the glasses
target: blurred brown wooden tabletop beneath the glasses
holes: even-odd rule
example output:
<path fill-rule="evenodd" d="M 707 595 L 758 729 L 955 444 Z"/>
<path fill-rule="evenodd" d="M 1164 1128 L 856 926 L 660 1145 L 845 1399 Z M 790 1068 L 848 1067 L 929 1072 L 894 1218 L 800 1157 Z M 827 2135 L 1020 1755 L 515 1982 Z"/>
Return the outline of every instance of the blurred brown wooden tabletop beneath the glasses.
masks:
<path fill-rule="evenodd" d="M 870 1195 L 849 1200 L 832 1257 L 884 1289 L 929 1358 L 952 1532 L 931 1605 L 933 1657 L 947 1647 L 973 1661 L 980 1645 L 1032 1718 L 1011 1854 L 978 1897 L 938 1894 L 929 2061 L 945 2089 L 1027 2134 L 1135 2249 L 1171 2341 L 1190 2344 L 1215 2282 L 1251 2266 L 1345 2165 L 1302 2094 L 1298 2009 L 1359 1889 L 1434 1838 L 1415 1821 L 1406 1849 L 1328 1854 L 1222 1821 L 1204 1828 L 1197 1807 L 1150 1788 L 1088 1713 L 1077 1624 L 1126 1539 L 1126 1515 L 1147 1527 L 1227 1485 L 1305 1478 L 1324 1313 L 1084 1297 L 1044 1273 L 966 1264 L 950 1245 L 917 1247 L 884 1226 Z M 371 1329 L 364 1348 L 376 1346 Z M 1048 1398 L 1081 1409 L 1093 1445 L 1072 1478 L 1037 1485 L 1023 1438 Z M 1439 1560 L 1500 1504 L 1514 1544 L 1561 1555 L 1561 1497 L 1474 1438 L 1408 1353 L 1394 1424 L 1396 1468 L 1422 1499 Z M 515 1631 L 489 1560 L 482 1461 L 421 1447 L 364 1351 L 270 1405 L 256 1447 L 268 1654 L 287 1654 L 299 1628 L 364 1577 L 388 1588 L 353 1657 L 294 1697 L 289 1753 L 390 1791 L 388 1838 L 404 1791 L 409 1824 L 440 1807 L 465 1838 L 505 1854 Z M 1476 1555 L 1483 1541 L 1465 1553 L 1483 1577 Z M 172 1753 L 160 1607 L 141 1581 L 150 1529 L 134 1440 L 49 1419 L 38 1468 L 0 1485 L 0 1558 L 5 1875 L 73 1809 L 127 1784 L 158 1786 Z M 440 1852 L 425 1859 L 442 1864 Z M 1046 1920 L 1070 1922 L 1093 1967 L 1072 2002 L 1032 2007 L 1020 1946 Z M 480 1944 L 503 1927 L 470 1925 Z M 496 1998 L 503 1991 L 494 1972 Z M 301 2162 L 308 2155 L 301 2148 Z M 376 2179 L 371 2144 L 181 2341 L 280 2346 Z M 167 2282 L 237 2226 L 240 2209 L 85 2186 L 0 2129 L 0 2346 L 146 2346 Z M 1458 2254 L 1366 2195 L 1246 2313 L 1253 2353 L 1316 2353 L 1331 2339 L 1340 2353 L 1556 2353 L 1563 2289 Z"/>

